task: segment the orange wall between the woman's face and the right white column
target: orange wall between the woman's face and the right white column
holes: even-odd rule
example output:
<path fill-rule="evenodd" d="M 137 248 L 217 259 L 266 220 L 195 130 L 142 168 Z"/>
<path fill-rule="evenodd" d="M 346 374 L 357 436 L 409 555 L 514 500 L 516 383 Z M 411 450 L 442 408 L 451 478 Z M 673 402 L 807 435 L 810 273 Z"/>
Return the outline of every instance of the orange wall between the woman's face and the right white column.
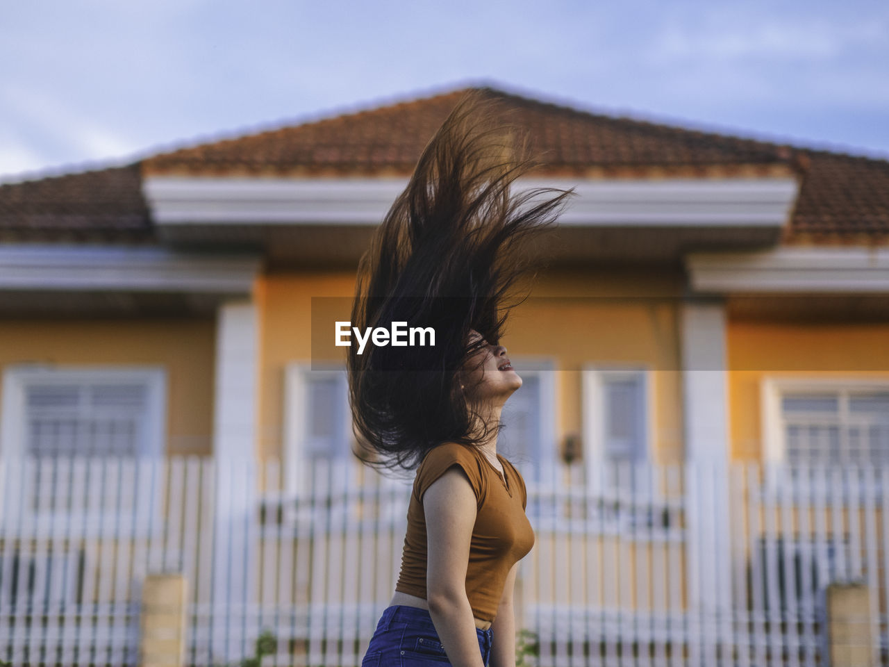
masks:
<path fill-rule="evenodd" d="M 643 366 L 653 369 L 654 460 L 681 459 L 681 290 L 680 276 L 639 269 L 553 269 L 534 284 L 502 342 L 510 354 L 555 357 L 564 371 L 557 382 L 558 442 L 581 433 L 583 366 Z"/>

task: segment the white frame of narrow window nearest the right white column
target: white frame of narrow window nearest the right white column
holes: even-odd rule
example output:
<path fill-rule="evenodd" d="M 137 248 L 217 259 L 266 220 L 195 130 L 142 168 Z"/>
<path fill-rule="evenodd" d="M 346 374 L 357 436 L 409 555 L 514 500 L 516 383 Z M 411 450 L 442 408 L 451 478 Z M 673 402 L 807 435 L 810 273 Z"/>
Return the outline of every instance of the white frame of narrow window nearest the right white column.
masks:
<path fill-rule="evenodd" d="M 654 382 L 653 371 L 641 365 L 586 365 L 581 369 L 581 424 L 583 459 L 587 466 L 588 485 L 595 493 L 603 493 L 602 465 L 614 465 L 605 453 L 605 381 L 609 379 L 640 379 L 642 382 L 642 415 L 639 424 L 645 445 L 646 464 L 654 461 Z M 653 489 L 656 491 L 656 489 Z"/>

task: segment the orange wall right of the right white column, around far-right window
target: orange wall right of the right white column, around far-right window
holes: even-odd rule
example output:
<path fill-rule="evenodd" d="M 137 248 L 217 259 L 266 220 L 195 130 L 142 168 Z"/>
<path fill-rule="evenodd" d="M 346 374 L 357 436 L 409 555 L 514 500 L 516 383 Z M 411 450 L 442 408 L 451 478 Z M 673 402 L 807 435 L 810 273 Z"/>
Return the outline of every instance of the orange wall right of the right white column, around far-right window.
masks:
<path fill-rule="evenodd" d="M 762 456 L 759 387 L 766 375 L 889 382 L 889 324 L 730 321 L 727 339 L 733 459 Z"/>

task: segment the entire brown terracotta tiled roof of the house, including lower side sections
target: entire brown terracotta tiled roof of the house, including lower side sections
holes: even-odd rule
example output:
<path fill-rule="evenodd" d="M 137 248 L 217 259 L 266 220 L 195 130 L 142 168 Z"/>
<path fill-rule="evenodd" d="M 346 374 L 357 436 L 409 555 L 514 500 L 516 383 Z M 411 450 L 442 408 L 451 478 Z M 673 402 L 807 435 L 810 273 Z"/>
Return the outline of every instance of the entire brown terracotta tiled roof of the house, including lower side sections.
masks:
<path fill-rule="evenodd" d="M 797 173 L 783 238 L 889 242 L 889 161 L 610 117 L 484 89 L 524 127 L 553 174 L 708 177 Z M 174 150 L 141 163 L 0 185 L 0 237 L 150 240 L 146 174 L 374 176 L 411 173 L 466 91 Z M 141 172 L 141 176 L 140 176 Z"/>

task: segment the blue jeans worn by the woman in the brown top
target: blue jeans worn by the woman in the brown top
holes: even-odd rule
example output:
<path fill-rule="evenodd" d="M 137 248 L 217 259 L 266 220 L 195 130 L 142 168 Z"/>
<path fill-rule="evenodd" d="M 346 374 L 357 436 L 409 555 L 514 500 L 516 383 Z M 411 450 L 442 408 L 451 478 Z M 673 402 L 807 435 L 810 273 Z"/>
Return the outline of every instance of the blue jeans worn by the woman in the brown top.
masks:
<path fill-rule="evenodd" d="M 491 659 L 493 630 L 476 628 L 476 634 L 482 662 L 487 665 Z M 447 664 L 450 663 L 432 616 L 426 609 L 407 605 L 393 605 L 383 610 L 361 661 L 361 667 L 445 667 Z"/>

